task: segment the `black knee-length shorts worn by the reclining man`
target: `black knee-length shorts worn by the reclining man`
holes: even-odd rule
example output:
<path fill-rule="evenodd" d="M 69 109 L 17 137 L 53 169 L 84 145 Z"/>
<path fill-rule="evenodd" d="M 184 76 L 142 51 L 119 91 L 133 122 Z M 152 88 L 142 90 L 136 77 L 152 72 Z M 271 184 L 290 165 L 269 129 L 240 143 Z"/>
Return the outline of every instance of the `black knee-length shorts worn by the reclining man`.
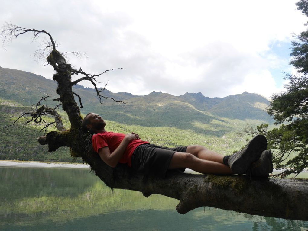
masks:
<path fill-rule="evenodd" d="M 135 149 L 132 155 L 132 168 L 144 174 L 164 177 L 173 154 L 186 152 L 186 149 L 187 146 L 168 148 L 154 144 L 142 144 Z"/>

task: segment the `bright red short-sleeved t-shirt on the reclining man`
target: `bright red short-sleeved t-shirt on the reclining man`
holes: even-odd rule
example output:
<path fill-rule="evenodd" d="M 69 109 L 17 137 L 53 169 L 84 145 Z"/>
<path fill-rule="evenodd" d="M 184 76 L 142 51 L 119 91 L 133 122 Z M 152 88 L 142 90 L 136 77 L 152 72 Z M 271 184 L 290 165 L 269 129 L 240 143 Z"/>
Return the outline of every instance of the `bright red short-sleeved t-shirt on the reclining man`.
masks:
<path fill-rule="evenodd" d="M 97 153 L 99 149 L 103 147 L 108 147 L 110 149 L 110 153 L 112 153 L 120 145 L 124 137 L 125 134 L 116 132 L 97 133 L 94 136 L 92 136 L 92 146 L 94 151 Z M 132 154 L 134 153 L 136 147 L 138 147 L 141 144 L 149 144 L 149 142 L 142 140 L 130 141 L 119 162 L 123 164 L 127 163 L 128 166 L 131 166 Z"/>

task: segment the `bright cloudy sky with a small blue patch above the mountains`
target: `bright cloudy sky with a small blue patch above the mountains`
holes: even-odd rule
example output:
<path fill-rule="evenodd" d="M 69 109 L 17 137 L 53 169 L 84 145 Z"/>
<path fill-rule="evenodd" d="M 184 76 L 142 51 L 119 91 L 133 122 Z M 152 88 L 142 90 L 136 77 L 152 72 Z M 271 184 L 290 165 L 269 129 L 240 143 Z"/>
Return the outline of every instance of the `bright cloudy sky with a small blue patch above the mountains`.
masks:
<path fill-rule="evenodd" d="M 112 92 L 270 98 L 283 90 L 282 72 L 295 73 L 292 33 L 308 21 L 296 2 L 1 0 L 0 22 L 46 30 L 59 51 L 86 52 L 69 62 L 87 73 L 125 68 L 98 79 Z M 0 49 L 0 66 L 52 78 L 51 66 L 32 57 L 39 45 L 31 34 L 17 37 Z"/>

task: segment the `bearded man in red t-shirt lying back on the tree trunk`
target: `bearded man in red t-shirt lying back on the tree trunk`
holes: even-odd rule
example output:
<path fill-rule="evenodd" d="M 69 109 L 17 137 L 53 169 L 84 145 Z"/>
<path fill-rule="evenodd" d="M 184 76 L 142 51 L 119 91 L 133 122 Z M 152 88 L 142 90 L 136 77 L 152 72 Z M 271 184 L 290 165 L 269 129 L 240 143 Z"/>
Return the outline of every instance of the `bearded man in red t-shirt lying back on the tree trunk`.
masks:
<path fill-rule="evenodd" d="M 105 130 L 106 122 L 98 114 L 89 113 L 83 128 L 91 133 L 95 152 L 109 166 L 125 163 L 138 172 L 164 177 L 168 169 L 189 168 L 198 173 L 248 174 L 268 177 L 273 171 L 272 154 L 263 135 L 251 139 L 245 148 L 223 155 L 201 145 L 168 148 L 143 141 L 137 133 L 122 134 Z"/>

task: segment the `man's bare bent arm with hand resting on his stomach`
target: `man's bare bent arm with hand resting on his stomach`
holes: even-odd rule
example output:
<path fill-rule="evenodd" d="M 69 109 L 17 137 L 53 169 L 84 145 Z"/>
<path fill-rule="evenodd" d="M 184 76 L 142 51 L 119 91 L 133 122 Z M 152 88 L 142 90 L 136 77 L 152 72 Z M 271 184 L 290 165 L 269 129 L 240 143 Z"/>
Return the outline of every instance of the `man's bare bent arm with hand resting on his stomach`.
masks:
<path fill-rule="evenodd" d="M 140 140 L 139 135 L 132 132 L 124 137 L 120 145 L 112 153 L 110 153 L 108 147 L 103 147 L 99 149 L 98 154 L 107 165 L 114 168 L 119 163 L 129 142 L 136 139 Z"/>

